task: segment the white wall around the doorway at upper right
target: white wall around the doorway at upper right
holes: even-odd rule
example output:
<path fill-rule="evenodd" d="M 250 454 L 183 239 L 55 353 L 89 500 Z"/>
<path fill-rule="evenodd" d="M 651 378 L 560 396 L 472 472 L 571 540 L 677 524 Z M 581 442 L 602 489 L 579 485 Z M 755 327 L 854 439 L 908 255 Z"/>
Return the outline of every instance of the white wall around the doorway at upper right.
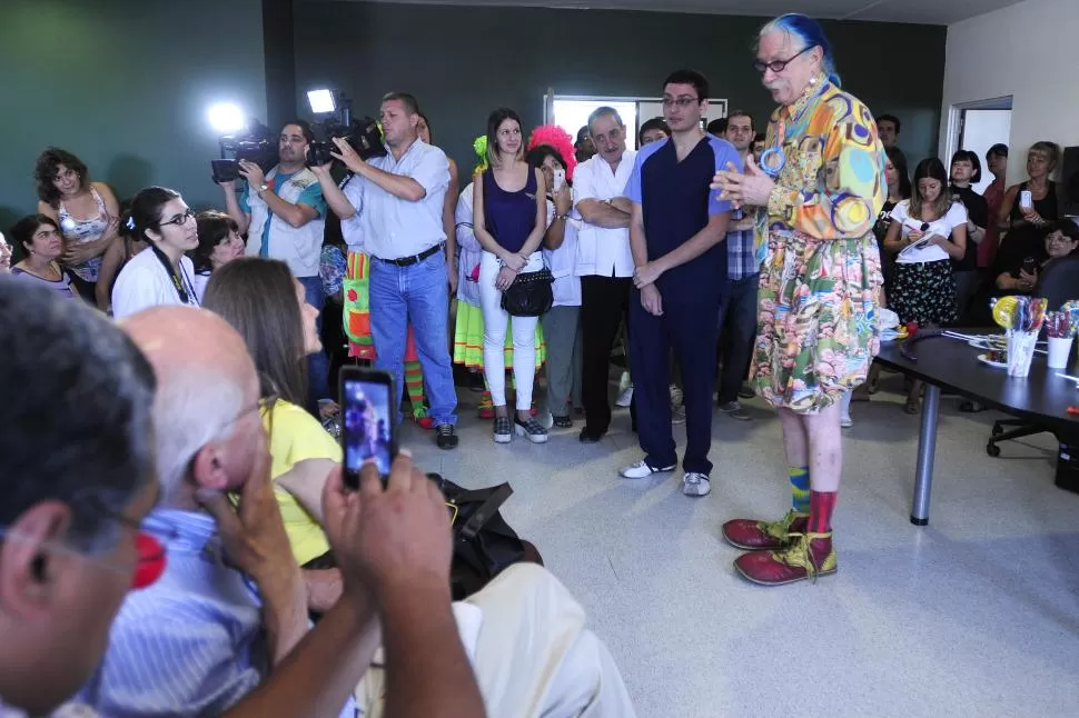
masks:
<path fill-rule="evenodd" d="M 1026 0 L 948 27 L 940 156 L 951 108 L 1012 96 L 1008 181 L 1038 140 L 1079 144 L 1079 0 Z"/>

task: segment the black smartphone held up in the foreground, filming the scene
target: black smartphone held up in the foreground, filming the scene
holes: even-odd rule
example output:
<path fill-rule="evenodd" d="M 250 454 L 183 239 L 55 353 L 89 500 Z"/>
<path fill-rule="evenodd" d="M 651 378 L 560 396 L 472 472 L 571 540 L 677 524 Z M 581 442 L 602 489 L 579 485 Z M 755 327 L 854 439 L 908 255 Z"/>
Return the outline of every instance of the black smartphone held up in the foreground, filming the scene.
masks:
<path fill-rule="evenodd" d="M 393 378 L 384 371 L 346 367 L 340 389 L 345 481 L 355 488 L 368 459 L 374 459 L 380 476 L 389 476 L 397 452 L 390 411 Z"/>

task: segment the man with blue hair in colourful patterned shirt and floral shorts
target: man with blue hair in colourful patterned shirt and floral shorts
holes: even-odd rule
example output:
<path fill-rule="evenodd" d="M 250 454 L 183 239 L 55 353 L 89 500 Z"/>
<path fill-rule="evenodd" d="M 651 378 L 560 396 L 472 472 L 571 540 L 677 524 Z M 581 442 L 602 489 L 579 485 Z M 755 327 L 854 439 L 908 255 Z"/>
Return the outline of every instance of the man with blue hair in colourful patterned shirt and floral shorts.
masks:
<path fill-rule="evenodd" d="M 780 103 L 760 167 L 719 172 L 724 199 L 759 207 L 758 393 L 779 408 L 793 507 L 779 521 L 723 527 L 749 550 L 735 568 L 775 586 L 835 572 L 832 511 L 842 469 L 840 402 L 880 347 L 873 222 L 883 146 L 869 109 L 840 89 L 824 31 L 784 14 L 760 32 L 756 70 Z"/>

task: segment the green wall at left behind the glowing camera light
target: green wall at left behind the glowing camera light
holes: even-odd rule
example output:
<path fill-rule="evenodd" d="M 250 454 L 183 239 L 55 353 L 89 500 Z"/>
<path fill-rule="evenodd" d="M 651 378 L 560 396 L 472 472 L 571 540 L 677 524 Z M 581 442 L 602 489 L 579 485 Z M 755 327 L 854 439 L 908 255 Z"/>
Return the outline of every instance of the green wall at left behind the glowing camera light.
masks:
<path fill-rule="evenodd" d="M 265 119 L 260 0 L 4 0 L 0 13 L 0 227 L 37 202 L 44 147 L 131 197 L 149 185 L 219 205 L 215 101 Z"/>

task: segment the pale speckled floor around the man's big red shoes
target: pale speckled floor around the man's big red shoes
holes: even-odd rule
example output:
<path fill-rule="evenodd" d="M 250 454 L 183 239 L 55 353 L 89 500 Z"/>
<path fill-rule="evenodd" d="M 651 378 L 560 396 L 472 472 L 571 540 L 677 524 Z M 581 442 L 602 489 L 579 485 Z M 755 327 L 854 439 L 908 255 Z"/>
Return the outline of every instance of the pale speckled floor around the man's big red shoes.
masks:
<path fill-rule="evenodd" d="M 477 399 L 462 390 L 459 450 L 413 425 L 403 443 L 466 486 L 513 483 L 504 515 L 586 607 L 640 716 L 1079 716 L 1079 495 L 1052 483 L 1051 438 L 991 459 L 998 415 L 946 397 L 931 525 L 917 528 L 918 418 L 897 393 L 855 403 L 839 574 L 766 589 L 738 577 L 719 530 L 790 502 L 779 421 L 759 400 L 751 422 L 716 415 L 712 495 L 692 499 L 679 475 L 617 478 L 640 458 L 626 410 L 600 445 L 575 428 L 496 446 Z"/>

